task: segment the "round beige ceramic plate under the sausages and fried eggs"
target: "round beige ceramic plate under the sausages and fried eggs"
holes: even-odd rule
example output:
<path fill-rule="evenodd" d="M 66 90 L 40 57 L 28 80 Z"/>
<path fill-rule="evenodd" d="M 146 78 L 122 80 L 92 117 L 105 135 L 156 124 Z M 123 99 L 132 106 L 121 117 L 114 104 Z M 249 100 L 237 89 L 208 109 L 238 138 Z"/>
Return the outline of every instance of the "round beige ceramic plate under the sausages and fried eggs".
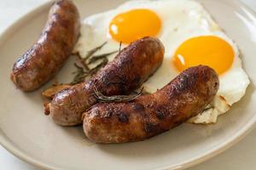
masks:
<path fill-rule="evenodd" d="M 75 1 L 82 18 L 124 0 Z M 50 3 L 26 14 L 0 38 L 0 143 L 15 156 L 49 169 L 179 169 L 212 156 L 235 144 L 256 121 L 256 15 L 234 0 L 201 0 L 218 24 L 241 48 L 243 65 L 252 83 L 246 96 L 228 114 L 210 126 L 183 124 L 152 139 L 131 144 L 92 144 L 81 127 L 59 127 L 44 116 L 44 88 L 25 94 L 9 81 L 15 59 L 38 38 Z M 57 75 L 71 77 L 73 58 Z"/>

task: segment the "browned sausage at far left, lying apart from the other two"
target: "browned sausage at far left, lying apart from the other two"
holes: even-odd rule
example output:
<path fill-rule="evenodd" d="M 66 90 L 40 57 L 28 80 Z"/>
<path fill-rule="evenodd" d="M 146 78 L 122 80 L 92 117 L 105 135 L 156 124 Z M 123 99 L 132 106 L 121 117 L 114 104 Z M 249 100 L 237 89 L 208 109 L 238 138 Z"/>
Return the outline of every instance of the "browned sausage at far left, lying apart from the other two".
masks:
<path fill-rule="evenodd" d="M 55 2 L 38 42 L 15 62 L 11 80 L 16 87 L 32 91 L 54 77 L 73 51 L 79 26 L 79 11 L 72 1 Z"/>

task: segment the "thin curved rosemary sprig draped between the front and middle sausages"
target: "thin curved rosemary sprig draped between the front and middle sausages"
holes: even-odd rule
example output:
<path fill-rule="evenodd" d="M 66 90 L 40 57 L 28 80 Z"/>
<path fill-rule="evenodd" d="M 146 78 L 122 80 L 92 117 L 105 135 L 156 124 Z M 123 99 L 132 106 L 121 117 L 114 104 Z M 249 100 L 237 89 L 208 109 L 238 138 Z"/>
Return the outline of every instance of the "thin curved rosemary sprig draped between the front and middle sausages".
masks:
<path fill-rule="evenodd" d="M 102 94 L 101 92 L 99 92 L 96 87 L 94 87 L 94 93 L 95 93 L 96 99 L 100 102 L 104 102 L 104 103 L 127 102 L 127 101 L 131 101 L 133 99 L 137 99 L 138 96 L 143 94 L 143 88 L 137 94 L 106 96 L 106 95 Z"/>

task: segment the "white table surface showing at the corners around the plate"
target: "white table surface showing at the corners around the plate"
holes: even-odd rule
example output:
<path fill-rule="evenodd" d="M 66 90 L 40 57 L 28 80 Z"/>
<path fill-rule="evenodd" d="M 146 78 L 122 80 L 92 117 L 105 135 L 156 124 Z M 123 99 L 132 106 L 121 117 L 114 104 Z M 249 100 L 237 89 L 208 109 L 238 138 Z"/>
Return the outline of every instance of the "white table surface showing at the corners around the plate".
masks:
<path fill-rule="evenodd" d="M 48 0 L 0 0 L 0 34 L 20 16 Z M 213 1 L 213 0 L 212 0 Z M 242 0 L 256 11 L 256 0 Z M 0 145 L 1 170 L 40 170 L 12 156 Z M 189 170 L 253 170 L 256 169 L 256 129 L 230 150 Z"/>

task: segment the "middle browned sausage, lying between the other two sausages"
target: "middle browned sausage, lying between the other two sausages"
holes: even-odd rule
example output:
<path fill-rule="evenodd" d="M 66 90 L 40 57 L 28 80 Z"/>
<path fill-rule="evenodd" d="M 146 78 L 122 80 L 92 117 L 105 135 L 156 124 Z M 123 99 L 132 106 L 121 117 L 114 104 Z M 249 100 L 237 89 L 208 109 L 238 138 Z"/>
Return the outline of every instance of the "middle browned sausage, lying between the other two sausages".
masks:
<path fill-rule="evenodd" d="M 102 94 L 129 94 L 161 65 L 164 47 L 154 37 L 144 37 L 124 48 L 88 82 L 61 91 L 48 105 L 50 116 L 62 126 L 82 123 L 82 113 L 96 103 L 94 87 Z"/>

